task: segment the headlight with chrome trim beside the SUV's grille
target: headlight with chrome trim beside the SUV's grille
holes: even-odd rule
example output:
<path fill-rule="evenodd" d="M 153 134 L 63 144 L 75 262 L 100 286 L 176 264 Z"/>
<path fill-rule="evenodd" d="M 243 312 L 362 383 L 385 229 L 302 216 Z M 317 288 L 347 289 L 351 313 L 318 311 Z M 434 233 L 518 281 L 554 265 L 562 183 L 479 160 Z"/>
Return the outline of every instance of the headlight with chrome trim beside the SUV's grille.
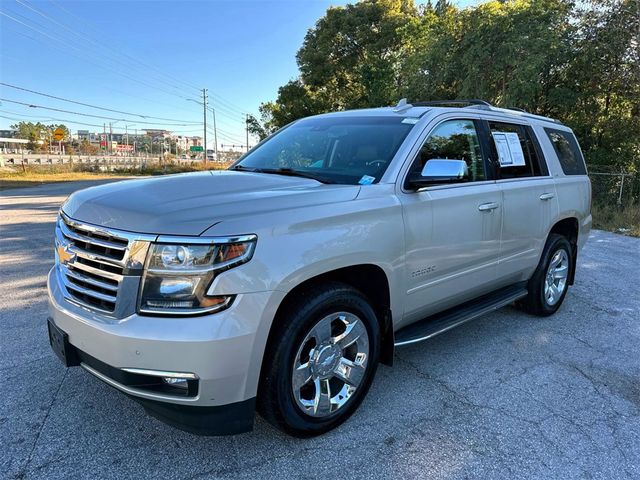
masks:
<path fill-rule="evenodd" d="M 248 262 L 255 235 L 234 238 L 161 237 L 149 249 L 138 311 L 149 314 L 197 315 L 231 305 L 233 295 L 206 295 L 216 274 Z"/>

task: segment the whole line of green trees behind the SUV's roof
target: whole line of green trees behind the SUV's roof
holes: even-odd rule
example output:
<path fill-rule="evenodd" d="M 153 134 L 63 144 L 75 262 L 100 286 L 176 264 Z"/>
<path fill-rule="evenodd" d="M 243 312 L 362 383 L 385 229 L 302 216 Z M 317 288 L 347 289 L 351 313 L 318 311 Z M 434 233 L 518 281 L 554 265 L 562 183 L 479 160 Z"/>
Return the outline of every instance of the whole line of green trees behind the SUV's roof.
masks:
<path fill-rule="evenodd" d="M 363 0 L 329 8 L 296 60 L 249 119 L 261 138 L 327 111 L 480 98 L 561 120 L 592 168 L 640 171 L 639 0 Z"/>

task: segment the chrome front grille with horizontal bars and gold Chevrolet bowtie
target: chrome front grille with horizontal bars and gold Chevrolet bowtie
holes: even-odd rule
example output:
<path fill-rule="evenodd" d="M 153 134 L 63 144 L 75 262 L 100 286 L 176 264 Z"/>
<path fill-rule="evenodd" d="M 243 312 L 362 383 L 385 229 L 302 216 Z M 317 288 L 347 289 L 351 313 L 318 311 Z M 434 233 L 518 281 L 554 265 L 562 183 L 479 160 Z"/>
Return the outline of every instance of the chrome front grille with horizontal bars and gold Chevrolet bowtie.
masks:
<path fill-rule="evenodd" d="M 56 264 L 67 299 L 119 318 L 133 313 L 153 239 L 77 222 L 61 213 L 56 224 Z"/>

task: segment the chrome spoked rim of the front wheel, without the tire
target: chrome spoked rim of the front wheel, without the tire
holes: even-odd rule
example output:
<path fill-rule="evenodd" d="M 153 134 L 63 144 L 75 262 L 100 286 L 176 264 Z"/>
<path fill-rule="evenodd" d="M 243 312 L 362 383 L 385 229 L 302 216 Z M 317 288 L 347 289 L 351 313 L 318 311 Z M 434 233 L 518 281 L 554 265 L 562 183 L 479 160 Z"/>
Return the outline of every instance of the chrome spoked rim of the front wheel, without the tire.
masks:
<path fill-rule="evenodd" d="M 320 320 L 298 348 L 292 371 L 296 404 L 312 417 L 343 407 L 367 368 L 369 335 L 358 316 L 336 312 Z"/>

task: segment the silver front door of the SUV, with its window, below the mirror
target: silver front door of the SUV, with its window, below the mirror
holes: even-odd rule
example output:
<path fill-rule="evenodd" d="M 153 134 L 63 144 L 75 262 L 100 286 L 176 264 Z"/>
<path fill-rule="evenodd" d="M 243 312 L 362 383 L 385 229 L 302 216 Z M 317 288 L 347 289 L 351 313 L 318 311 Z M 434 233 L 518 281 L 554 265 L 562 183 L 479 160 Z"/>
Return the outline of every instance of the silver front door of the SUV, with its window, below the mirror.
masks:
<path fill-rule="evenodd" d="M 455 159 L 467 163 L 469 176 L 400 196 L 406 244 L 404 324 L 482 295 L 494 285 L 502 196 L 487 168 L 479 125 L 471 119 L 439 123 L 409 170 L 409 175 L 421 171 L 430 159 Z"/>

